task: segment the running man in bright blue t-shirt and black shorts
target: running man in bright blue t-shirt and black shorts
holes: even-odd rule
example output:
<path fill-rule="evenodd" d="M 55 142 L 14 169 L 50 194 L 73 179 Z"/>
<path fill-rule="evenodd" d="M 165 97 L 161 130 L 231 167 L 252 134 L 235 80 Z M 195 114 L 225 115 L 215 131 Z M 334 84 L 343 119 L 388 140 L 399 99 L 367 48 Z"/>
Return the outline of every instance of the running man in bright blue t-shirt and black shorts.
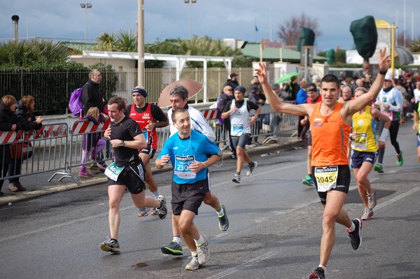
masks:
<path fill-rule="evenodd" d="M 155 164 L 162 169 L 169 161 L 174 167 L 172 178 L 172 214 L 175 227 L 191 250 L 191 262 L 186 270 L 195 270 L 209 261 L 209 241 L 193 223 L 204 196 L 209 192 L 207 167 L 218 162 L 223 153 L 218 146 L 198 131 L 191 129 L 190 114 L 185 108 L 175 108 L 172 122 L 178 133 L 162 148 Z"/>

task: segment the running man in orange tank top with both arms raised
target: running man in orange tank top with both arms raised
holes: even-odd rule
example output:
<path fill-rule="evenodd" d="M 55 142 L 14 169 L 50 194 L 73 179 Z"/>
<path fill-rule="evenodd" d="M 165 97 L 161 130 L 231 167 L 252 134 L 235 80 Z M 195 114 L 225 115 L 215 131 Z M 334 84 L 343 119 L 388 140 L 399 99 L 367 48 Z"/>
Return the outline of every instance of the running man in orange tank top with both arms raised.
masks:
<path fill-rule="evenodd" d="M 312 173 L 324 211 L 319 265 L 312 271 L 309 278 L 325 278 L 325 266 L 328 264 L 335 242 L 336 222 L 347 228 L 354 250 L 358 249 L 362 243 L 360 237 L 362 222 L 359 219 L 351 220 L 342 208 L 349 191 L 351 177 L 346 150 L 349 142 L 351 117 L 358 110 L 367 106 L 370 101 L 376 99 L 384 83 L 384 76 L 391 61 L 391 55 L 386 55 L 385 52 L 386 48 L 379 50 L 379 73 L 369 92 L 358 99 L 345 103 L 337 102 L 339 81 L 336 76 L 327 75 L 321 80 L 321 103 L 294 105 L 283 103 L 274 94 L 268 83 L 265 64 L 260 63 L 260 69 L 255 70 L 265 96 L 267 96 L 267 101 L 274 111 L 292 115 L 307 115 L 311 122 L 314 150 Z"/>

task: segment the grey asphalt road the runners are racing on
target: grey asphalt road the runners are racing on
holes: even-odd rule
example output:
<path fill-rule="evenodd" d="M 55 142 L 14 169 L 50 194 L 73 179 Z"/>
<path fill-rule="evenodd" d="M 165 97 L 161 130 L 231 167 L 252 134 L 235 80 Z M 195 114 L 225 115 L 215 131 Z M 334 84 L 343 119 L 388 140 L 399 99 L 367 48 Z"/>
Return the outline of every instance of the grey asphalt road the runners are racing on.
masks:
<path fill-rule="evenodd" d="M 420 172 L 410 125 L 398 136 L 404 165 L 396 166 L 388 140 L 385 173 L 370 174 L 378 205 L 372 220 L 363 222 L 358 250 L 337 225 L 327 278 L 420 278 Z M 121 204 L 123 252 L 99 250 L 109 235 L 102 184 L 0 208 L 0 278 L 307 278 L 318 264 L 322 209 L 315 190 L 301 183 L 306 149 L 251 157 L 258 169 L 243 175 L 241 185 L 230 181 L 234 160 L 211 167 L 212 192 L 228 206 L 231 224 L 221 232 L 214 210 L 200 208 L 195 224 L 209 236 L 211 259 L 197 271 L 184 270 L 185 245 L 182 257 L 160 252 L 172 239 L 169 217 L 137 217 L 129 195 Z M 155 179 L 170 197 L 170 173 Z M 354 180 L 345 209 L 352 218 L 363 213 Z"/>

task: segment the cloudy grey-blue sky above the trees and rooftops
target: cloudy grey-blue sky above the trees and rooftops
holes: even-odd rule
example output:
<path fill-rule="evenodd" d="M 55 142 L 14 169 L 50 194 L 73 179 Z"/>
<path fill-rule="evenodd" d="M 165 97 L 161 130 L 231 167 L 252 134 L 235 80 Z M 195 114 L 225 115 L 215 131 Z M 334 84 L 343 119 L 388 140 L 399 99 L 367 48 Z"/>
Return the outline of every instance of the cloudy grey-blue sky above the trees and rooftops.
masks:
<path fill-rule="evenodd" d="M 12 15 L 18 15 L 19 37 L 94 39 L 100 34 L 137 30 L 137 0 L 0 0 L 0 39 L 13 37 Z M 92 3 L 82 9 L 80 3 Z M 292 4 L 290 4 L 292 3 Z M 405 5 L 404 5 L 405 3 Z M 405 6 L 405 9 L 404 9 Z M 405 24 L 404 24 L 405 10 Z M 255 42 L 262 38 L 279 41 L 279 26 L 304 13 L 318 20 L 321 36 L 316 51 L 349 50 L 353 20 L 372 15 L 405 30 L 407 37 L 420 37 L 419 0 L 144 0 L 145 41 L 165 38 L 209 36 Z M 414 24 L 412 14 L 414 13 Z M 417 15 L 416 15 L 417 14 Z M 87 24 L 86 24 L 87 20 Z M 258 31 L 255 32 L 255 24 Z M 414 32 L 412 32 L 414 27 Z"/>

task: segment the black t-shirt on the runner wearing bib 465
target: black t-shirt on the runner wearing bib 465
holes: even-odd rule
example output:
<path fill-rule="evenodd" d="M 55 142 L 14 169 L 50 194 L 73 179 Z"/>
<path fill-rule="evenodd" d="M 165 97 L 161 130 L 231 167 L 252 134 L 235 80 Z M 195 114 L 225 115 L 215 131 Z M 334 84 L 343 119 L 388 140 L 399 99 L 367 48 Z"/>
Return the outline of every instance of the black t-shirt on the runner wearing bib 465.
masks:
<path fill-rule="evenodd" d="M 139 134 L 141 134 L 139 125 L 130 117 L 125 116 L 118 124 L 111 122 L 111 140 L 120 139 L 122 141 L 133 141 Z M 117 166 L 127 166 L 127 164 L 133 160 L 140 162 L 139 152 L 135 148 L 120 146 L 114 148 L 114 155 L 116 157 Z"/>

